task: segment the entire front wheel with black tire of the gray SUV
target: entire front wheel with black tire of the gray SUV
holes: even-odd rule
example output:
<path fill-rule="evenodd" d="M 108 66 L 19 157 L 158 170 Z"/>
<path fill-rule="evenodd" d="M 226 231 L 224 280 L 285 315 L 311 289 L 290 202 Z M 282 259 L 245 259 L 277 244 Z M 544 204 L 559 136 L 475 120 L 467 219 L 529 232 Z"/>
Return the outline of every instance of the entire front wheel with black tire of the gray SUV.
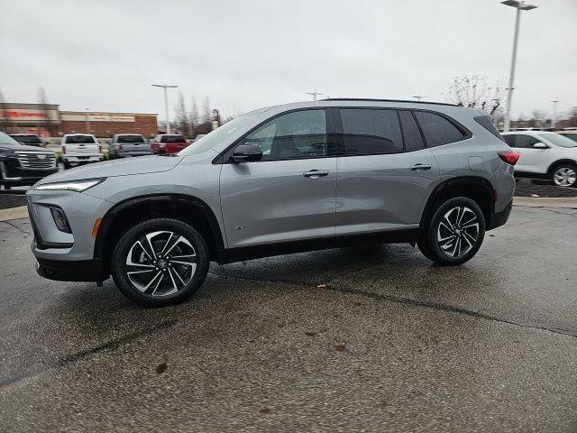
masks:
<path fill-rule="evenodd" d="M 156 233 L 167 235 L 154 235 Z M 168 235 L 168 233 L 172 235 Z M 137 245 L 137 241 L 145 239 L 147 235 L 151 236 L 150 239 L 147 239 L 150 240 L 150 242 L 146 244 L 146 248 L 142 248 L 141 251 L 141 247 Z M 174 242 L 174 239 L 180 239 L 180 237 L 176 237 L 177 235 L 182 236 L 188 244 L 184 241 L 181 243 L 178 241 Z M 164 248 L 160 251 L 160 248 L 163 246 L 160 243 L 165 242 L 165 237 L 168 240 L 166 240 Z M 174 244 L 172 245 L 172 243 Z M 142 244 L 141 242 L 141 245 Z M 151 253 L 151 247 L 152 251 L 157 254 L 156 256 L 149 254 Z M 171 251 L 168 251 L 167 247 Z M 183 251 L 189 249 L 189 247 L 191 248 L 191 252 L 190 250 L 188 252 Z M 164 253 L 165 250 L 168 251 L 168 253 Z M 188 255 L 170 255 L 174 254 L 173 252 L 177 250 L 181 253 L 188 253 Z M 159 253 L 161 255 L 159 255 Z M 192 254 L 194 254 L 194 258 L 192 258 Z M 152 261 L 151 255 L 153 255 L 154 261 Z M 135 263 L 134 257 L 139 258 L 137 264 L 127 263 Z M 188 260 L 195 262 L 196 269 L 192 268 L 191 265 L 179 264 L 182 262 L 171 262 L 171 260 L 174 261 L 176 258 L 180 258 L 179 260 L 187 260 L 181 257 L 189 257 Z M 164 262 L 160 264 L 162 260 Z M 162 307 L 177 304 L 192 296 L 206 280 L 209 262 L 206 242 L 197 230 L 177 219 L 155 218 L 133 226 L 133 228 L 127 230 L 124 235 L 121 236 L 114 247 L 110 269 L 116 287 L 124 296 L 143 306 Z M 150 271 L 148 271 L 148 269 L 150 269 Z M 189 269 L 191 273 L 187 273 Z M 133 276 L 129 276 L 128 272 L 132 272 Z M 160 280 L 155 281 L 154 279 L 157 277 L 154 277 L 147 286 L 144 286 L 148 279 L 150 279 L 150 276 L 156 274 L 160 275 Z M 142 283 L 141 280 L 138 280 L 141 278 Z M 180 281 L 178 279 L 180 279 Z M 177 286 L 181 284 L 182 287 L 178 288 Z M 141 289 L 138 289 L 137 285 L 140 285 Z M 156 286 L 156 288 L 154 288 L 154 286 Z M 146 289 L 147 287 L 148 289 Z M 156 293 L 157 291 L 158 293 Z"/>

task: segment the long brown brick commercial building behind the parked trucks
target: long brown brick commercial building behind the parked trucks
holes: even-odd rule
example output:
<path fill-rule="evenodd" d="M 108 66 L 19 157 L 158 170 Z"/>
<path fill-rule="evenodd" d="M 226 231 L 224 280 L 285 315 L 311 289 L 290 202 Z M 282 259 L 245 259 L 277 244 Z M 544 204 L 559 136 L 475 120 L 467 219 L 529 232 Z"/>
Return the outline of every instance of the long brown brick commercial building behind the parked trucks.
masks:
<path fill-rule="evenodd" d="M 11 134 L 95 134 L 106 138 L 114 134 L 158 133 L 156 114 L 60 111 L 54 104 L 0 104 L 0 129 Z"/>

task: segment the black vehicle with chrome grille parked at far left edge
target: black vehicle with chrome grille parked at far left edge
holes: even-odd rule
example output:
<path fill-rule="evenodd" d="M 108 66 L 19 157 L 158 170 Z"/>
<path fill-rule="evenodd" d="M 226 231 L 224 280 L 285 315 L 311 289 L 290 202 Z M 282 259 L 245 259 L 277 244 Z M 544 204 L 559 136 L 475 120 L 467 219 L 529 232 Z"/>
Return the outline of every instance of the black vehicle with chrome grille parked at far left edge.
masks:
<path fill-rule="evenodd" d="M 0 187 L 33 185 L 57 171 L 56 153 L 23 145 L 0 132 Z"/>

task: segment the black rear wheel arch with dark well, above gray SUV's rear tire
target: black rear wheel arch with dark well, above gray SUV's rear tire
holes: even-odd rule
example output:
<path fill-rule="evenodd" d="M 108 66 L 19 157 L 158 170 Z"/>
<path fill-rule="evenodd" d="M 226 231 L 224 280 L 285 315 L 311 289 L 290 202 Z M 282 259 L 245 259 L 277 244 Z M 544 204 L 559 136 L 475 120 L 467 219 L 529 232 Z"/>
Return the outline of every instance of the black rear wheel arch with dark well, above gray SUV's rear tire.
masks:
<path fill-rule="evenodd" d="M 481 207 L 485 222 L 489 225 L 490 217 L 495 213 L 494 190 L 490 181 L 479 176 L 461 176 L 444 180 L 436 186 L 426 201 L 419 228 L 426 228 L 439 201 L 459 196 L 474 200 Z"/>

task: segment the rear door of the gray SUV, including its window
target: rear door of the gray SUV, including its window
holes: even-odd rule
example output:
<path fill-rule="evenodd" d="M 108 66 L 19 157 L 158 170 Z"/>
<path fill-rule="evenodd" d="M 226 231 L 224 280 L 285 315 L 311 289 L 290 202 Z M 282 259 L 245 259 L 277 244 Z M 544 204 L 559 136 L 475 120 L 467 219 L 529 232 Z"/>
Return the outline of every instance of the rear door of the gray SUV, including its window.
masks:
<path fill-rule="evenodd" d="M 336 234 L 417 227 L 439 171 L 414 115 L 380 108 L 339 111 L 344 156 L 338 159 Z"/>

